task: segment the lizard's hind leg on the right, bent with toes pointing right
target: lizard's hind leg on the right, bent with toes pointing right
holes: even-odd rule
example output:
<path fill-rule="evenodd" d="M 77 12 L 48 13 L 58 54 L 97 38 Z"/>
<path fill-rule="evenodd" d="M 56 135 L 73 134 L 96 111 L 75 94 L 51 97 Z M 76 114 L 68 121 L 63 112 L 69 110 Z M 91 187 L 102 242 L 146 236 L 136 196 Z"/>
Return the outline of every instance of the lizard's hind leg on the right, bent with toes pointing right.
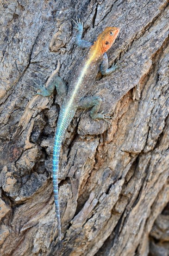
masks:
<path fill-rule="evenodd" d="M 92 108 L 90 111 L 90 116 L 93 120 L 103 119 L 104 121 L 108 122 L 106 118 L 110 118 L 109 116 L 98 113 L 101 102 L 102 100 L 99 96 L 85 97 L 79 101 L 78 108 Z M 110 122 L 108 123 L 111 125 Z"/>

